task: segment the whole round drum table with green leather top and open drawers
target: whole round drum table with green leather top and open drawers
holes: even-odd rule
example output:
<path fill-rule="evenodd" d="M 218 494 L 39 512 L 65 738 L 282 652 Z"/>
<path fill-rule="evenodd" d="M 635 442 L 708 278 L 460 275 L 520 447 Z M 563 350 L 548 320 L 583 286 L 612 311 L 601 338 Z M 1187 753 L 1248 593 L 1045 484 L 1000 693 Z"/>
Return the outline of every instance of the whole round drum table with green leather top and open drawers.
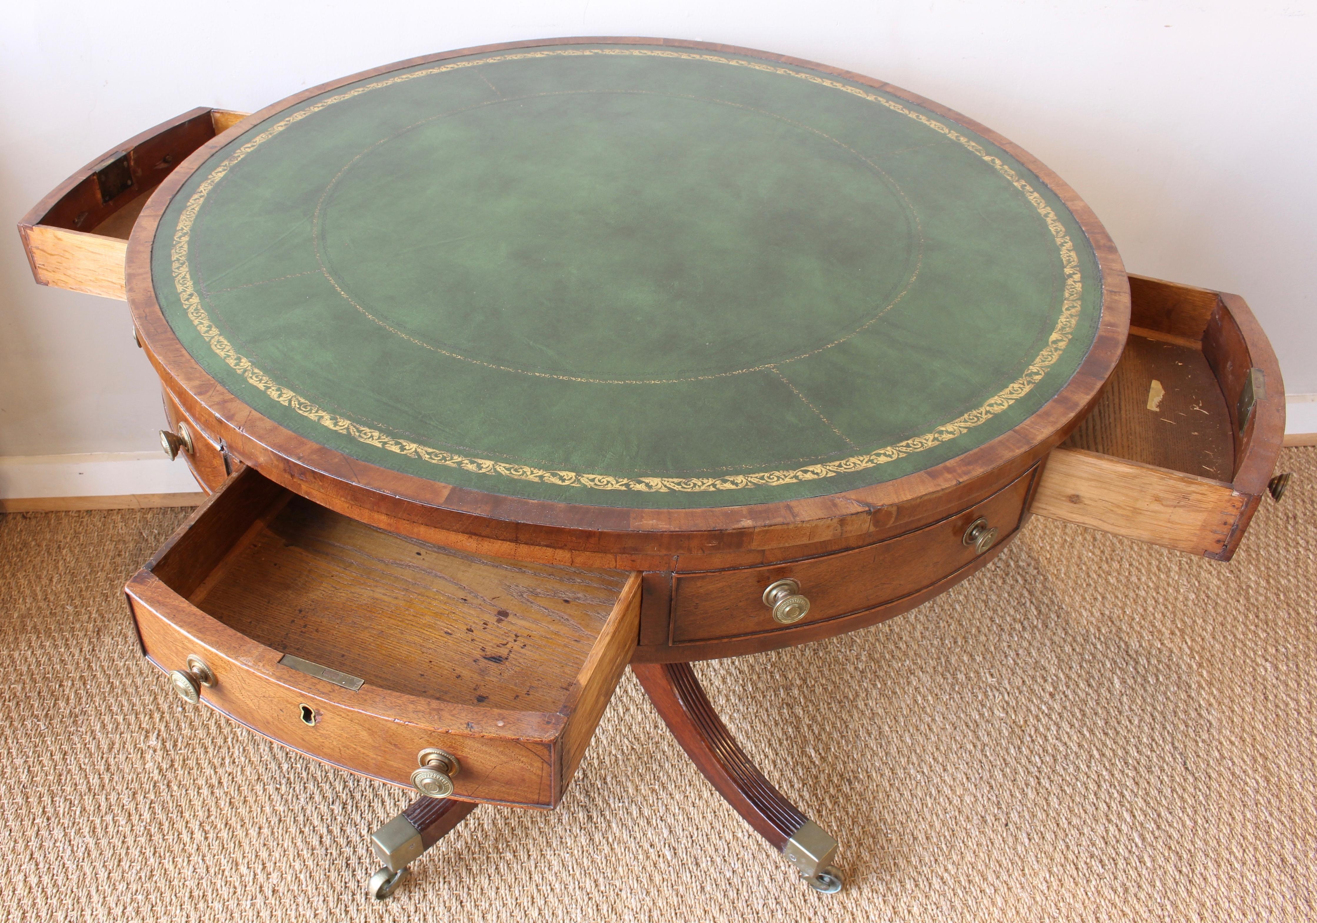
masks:
<path fill-rule="evenodd" d="M 126 298 L 211 494 L 128 583 L 142 650 L 415 786 L 381 898 L 477 803 L 554 807 L 627 664 L 840 889 L 690 662 L 905 612 L 1031 512 L 1229 560 L 1284 429 L 1242 299 L 1127 277 L 964 116 L 761 51 L 523 42 L 194 109 L 20 230 L 38 282 Z"/>

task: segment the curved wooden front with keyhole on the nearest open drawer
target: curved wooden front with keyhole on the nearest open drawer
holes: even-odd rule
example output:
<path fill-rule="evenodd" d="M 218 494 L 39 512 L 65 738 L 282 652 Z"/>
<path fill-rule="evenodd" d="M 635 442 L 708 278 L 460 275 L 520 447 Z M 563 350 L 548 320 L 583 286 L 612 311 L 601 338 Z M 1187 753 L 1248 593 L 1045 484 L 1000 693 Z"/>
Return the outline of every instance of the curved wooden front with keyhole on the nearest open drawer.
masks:
<path fill-rule="evenodd" d="M 129 602 L 151 662 L 169 672 L 186 669 L 188 656 L 199 656 L 216 679 L 213 686 L 202 687 L 202 700 L 253 731 L 335 766 L 402 786 L 411 785 L 416 754 L 439 747 L 461 762 L 453 778 L 454 798 L 553 804 L 554 761 L 548 744 L 460 736 L 403 720 L 385 711 L 378 690 L 340 690 L 283 666 L 278 652 L 203 614 L 170 620 L 145 602 L 150 587 L 137 590 L 138 598 L 130 595 Z M 353 698 L 361 699 L 356 707 L 349 704 Z M 424 710 L 424 703 L 416 704 Z M 311 708 L 313 724 L 303 720 L 303 706 Z M 489 728 L 500 729 L 497 724 Z M 544 731 L 552 735 L 554 728 Z"/>

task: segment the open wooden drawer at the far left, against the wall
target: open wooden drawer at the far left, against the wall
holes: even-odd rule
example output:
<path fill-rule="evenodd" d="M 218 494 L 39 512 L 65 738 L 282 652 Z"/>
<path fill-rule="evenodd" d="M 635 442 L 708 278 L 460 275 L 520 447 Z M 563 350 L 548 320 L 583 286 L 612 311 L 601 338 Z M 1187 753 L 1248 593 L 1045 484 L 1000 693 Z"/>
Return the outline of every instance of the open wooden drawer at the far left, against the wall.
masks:
<path fill-rule="evenodd" d="M 137 216 L 188 154 L 245 112 L 198 108 L 129 138 L 84 166 L 18 223 L 37 282 L 122 300 L 124 259 Z"/>

